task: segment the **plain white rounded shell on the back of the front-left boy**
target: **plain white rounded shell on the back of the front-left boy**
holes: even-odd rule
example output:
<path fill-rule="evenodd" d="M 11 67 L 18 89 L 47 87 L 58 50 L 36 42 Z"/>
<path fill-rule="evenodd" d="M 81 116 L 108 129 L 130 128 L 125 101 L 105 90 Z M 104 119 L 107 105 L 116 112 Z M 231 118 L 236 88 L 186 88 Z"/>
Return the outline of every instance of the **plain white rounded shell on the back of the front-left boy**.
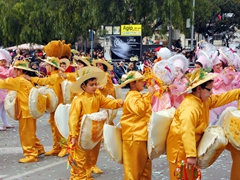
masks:
<path fill-rule="evenodd" d="M 59 104 L 54 114 L 54 119 L 58 131 L 65 139 L 68 139 L 69 136 L 68 120 L 70 108 L 71 104 Z"/>

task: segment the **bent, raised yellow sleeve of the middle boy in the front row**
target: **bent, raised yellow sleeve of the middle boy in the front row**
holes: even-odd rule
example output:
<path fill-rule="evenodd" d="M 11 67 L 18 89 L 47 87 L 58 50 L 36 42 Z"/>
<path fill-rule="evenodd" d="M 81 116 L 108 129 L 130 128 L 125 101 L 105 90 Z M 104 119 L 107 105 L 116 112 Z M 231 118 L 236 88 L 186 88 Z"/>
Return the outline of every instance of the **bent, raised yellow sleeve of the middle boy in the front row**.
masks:
<path fill-rule="evenodd" d="M 127 108 L 131 114 L 142 115 L 143 113 L 146 113 L 151 106 L 151 101 L 152 95 L 150 93 L 143 94 L 142 98 L 133 96 L 128 99 L 125 108 Z"/>

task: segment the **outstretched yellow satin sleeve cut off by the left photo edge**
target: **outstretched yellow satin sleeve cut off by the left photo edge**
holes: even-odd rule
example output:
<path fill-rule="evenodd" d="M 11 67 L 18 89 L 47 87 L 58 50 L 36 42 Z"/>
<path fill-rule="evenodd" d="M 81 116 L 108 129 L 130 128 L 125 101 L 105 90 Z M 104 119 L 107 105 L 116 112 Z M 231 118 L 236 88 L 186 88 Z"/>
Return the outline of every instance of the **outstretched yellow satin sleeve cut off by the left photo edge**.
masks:
<path fill-rule="evenodd" d="M 18 91 L 20 89 L 20 81 L 16 78 L 0 79 L 0 89 Z"/>

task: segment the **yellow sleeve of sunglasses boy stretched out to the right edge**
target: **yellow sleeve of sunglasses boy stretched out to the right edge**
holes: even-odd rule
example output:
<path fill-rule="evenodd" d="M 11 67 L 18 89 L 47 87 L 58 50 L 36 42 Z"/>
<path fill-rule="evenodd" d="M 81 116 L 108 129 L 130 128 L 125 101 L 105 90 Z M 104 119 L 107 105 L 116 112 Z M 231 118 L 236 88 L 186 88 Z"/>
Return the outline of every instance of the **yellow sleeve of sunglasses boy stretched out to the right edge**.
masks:
<path fill-rule="evenodd" d="M 240 89 L 234 89 L 219 95 L 212 95 L 209 99 L 209 108 L 213 109 L 238 100 Z"/>

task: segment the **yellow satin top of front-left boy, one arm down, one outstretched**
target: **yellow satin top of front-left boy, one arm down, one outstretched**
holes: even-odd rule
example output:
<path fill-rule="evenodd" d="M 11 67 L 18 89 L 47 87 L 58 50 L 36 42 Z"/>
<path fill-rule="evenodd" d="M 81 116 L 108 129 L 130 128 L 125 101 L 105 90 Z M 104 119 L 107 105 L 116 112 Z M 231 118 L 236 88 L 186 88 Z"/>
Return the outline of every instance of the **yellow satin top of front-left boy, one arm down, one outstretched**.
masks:
<path fill-rule="evenodd" d="M 83 92 L 73 99 L 69 114 L 69 135 L 78 137 L 80 125 L 84 114 L 99 112 L 100 108 L 117 109 L 122 105 L 121 100 L 114 100 L 104 97 L 101 93 L 96 92 L 89 94 Z"/>

